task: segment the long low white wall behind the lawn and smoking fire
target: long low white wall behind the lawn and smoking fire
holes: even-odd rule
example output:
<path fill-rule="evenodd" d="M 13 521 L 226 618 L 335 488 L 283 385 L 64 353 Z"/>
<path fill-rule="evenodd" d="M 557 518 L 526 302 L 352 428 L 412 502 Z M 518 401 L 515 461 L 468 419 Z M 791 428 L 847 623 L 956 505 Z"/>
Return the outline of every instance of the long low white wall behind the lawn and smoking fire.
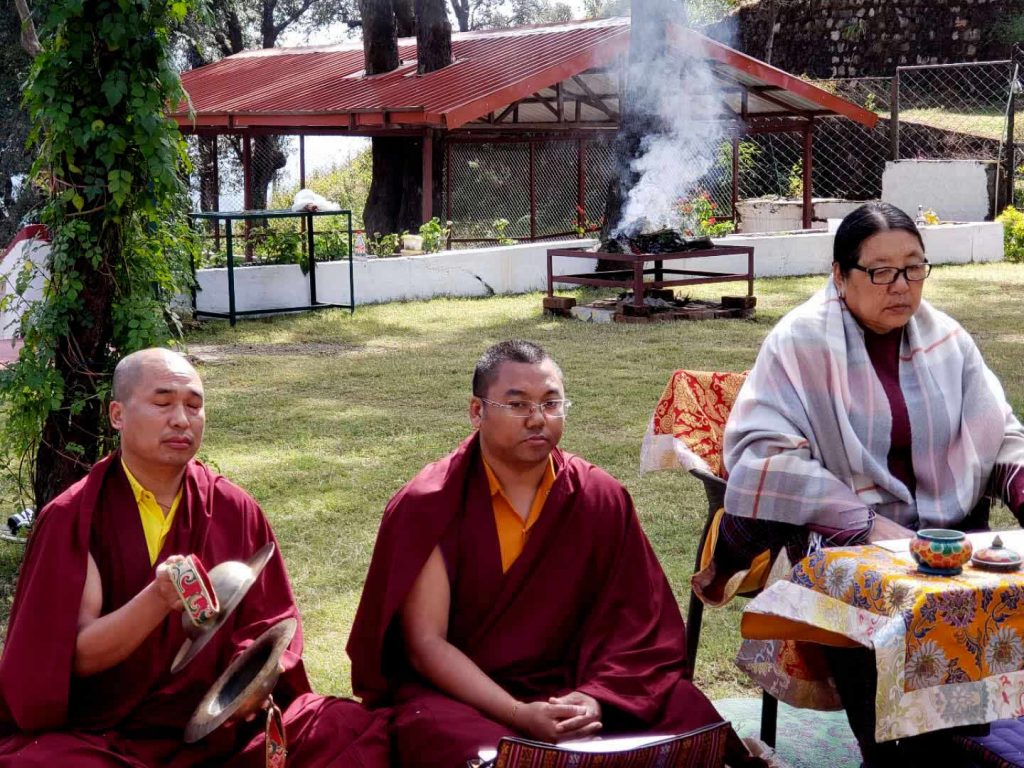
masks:
<path fill-rule="evenodd" d="M 936 264 L 1002 259 L 1000 223 L 938 224 L 924 227 L 923 236 L 928 257 Z M 833 238 L 829 232 L 811 230 L 778 236 L 730 234 L 718 242 L 753 246 L 755 274 L 767 278 L 824 274 L 831 268 Z M 373 304 L 433 296 L 541 291 L 547 288 L 549 248 L 586 248 L 593 244 L 592 240 L 569 240 L 360 260 L 354 264 L 355 302 Z M 595 266 L 593 259 L 557 258 L 554 271 L 586 273 Z M 682 268 L 740 272 L 746 270 L 746 257 L 687 259 Z M 198 295 L 199 308 L 226 312 L 227 270 L 203 269 L 198 279 L 202 289 Z M 234 270 L 234 294 L 238 310 L 301 306 L 309 301 L 309 282 L 295 265 L 240 267 Z M 347 261 L 317 265 L 316 298 L 348 303 Z"/>

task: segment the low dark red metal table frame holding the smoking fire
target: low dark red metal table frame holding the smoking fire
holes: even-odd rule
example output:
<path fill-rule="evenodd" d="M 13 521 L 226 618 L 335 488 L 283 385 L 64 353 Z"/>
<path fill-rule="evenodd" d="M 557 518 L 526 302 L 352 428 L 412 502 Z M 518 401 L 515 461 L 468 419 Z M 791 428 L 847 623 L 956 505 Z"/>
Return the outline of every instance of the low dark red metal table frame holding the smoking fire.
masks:
<path fill-rule="evenodd" d="M 677 269 L 665 266 L 666 261 L 736 255 L 746 256 L 745 272 Z M 583 274 L 555 274 L 552 264 L 556 256 L 615 261 L 622 263 L 624 268 Z M 653 263 L 653 267 L 646 267 L 649 262 Z M 653 276 L 653 281 L 645 281 L 644 279 L 647 276 Z M 746 295 L 754 295 L 754 248 L 751 246 L 715 246 L 714 248 L 673 253 L 605 253 L 603 251 L 585 251 L 581 248 L 548 249 L 548 296 L 554 296 L 555 283 L 628 289 L 633 291 L 632 306 L 634 310 L 639 311 L 642 311 L 645 306 L 645 291 L 736 281 L 746 281 Z"/>

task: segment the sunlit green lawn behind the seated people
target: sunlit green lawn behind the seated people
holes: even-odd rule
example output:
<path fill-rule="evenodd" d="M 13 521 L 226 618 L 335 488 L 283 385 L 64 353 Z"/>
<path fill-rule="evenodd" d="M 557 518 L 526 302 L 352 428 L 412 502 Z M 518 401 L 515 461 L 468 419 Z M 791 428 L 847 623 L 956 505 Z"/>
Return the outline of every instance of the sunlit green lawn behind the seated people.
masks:
<path fill-rule="evenodd" d="M 592 326 L 545 317 L 541 295 L 528 294 L 246 321 L 233 330 L 215 323 L 191 333 L 209 398 L 202 457 L 270 518 L 315 688 L 349 692 L 344 645 L 384 505 L 467 434 L 473 364 L 509 337 L 540 342 L 561 364 L 577 403 L 563 445 L 628 486 L 685 609 L 706 503 L 683 474 L 640 476 L 647 420 L 673 370 L 750 368 L 772 325 L 823 280 L 758 281 L 753 322 Z M 974 333 L 1021 413 L 1024 265 L 936 268 L 926 292 Z M 0 592 L 8 596 L 16 563 L 12 547 L 0 549 Z M 713 697 L 752 691 L 732 664 L 741 608 L 705 614 L 697 680 Z"/>

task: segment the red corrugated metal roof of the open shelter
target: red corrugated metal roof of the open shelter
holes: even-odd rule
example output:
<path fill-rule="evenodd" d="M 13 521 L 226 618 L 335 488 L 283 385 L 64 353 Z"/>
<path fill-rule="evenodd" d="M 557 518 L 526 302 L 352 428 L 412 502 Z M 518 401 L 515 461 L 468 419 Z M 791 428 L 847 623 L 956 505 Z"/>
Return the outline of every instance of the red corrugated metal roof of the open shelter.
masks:
<path fill-rule="evenodd" d="M 629 34 L 628 18 L 456 34 L 454 63 L 422 76 L 416 74 L 411 39 L 399 41 L 402 65 L 397 70 L 372 77 L 362 74 L 358 43 L 247 51 L 184 73 L 189 104 L 172 116 L 183 130 L 225 133 L 454 130 L 589 70 L 614 69 L 629 47 Z M 672 39 L 683 46 L 696 44 L 720 78 L 745 89 L 743 103 L 730 104 L 744 119 L 843 115 L 866 126 L 878 120 L 873 113 L 696 33 L 676 29 Z"/>

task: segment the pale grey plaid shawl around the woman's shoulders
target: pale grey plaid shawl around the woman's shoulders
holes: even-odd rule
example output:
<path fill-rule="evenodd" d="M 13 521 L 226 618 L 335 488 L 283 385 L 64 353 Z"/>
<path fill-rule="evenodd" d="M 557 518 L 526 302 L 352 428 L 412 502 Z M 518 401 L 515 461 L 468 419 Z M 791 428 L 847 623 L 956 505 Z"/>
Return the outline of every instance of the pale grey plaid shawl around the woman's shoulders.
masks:
<path fill-rule="evenodd" d="M 900 346 L 916 496 L 889 471 L 889 399 L 833 281 L 768 335 L 725 431 L 730 514 L 836 531 L 874 514 L 909 527 L 963 520 L 1024 464 L 1024 429 L 971 336 L 927 302 Z M 995 493 L 992 494 L 992 490 Z"/>

